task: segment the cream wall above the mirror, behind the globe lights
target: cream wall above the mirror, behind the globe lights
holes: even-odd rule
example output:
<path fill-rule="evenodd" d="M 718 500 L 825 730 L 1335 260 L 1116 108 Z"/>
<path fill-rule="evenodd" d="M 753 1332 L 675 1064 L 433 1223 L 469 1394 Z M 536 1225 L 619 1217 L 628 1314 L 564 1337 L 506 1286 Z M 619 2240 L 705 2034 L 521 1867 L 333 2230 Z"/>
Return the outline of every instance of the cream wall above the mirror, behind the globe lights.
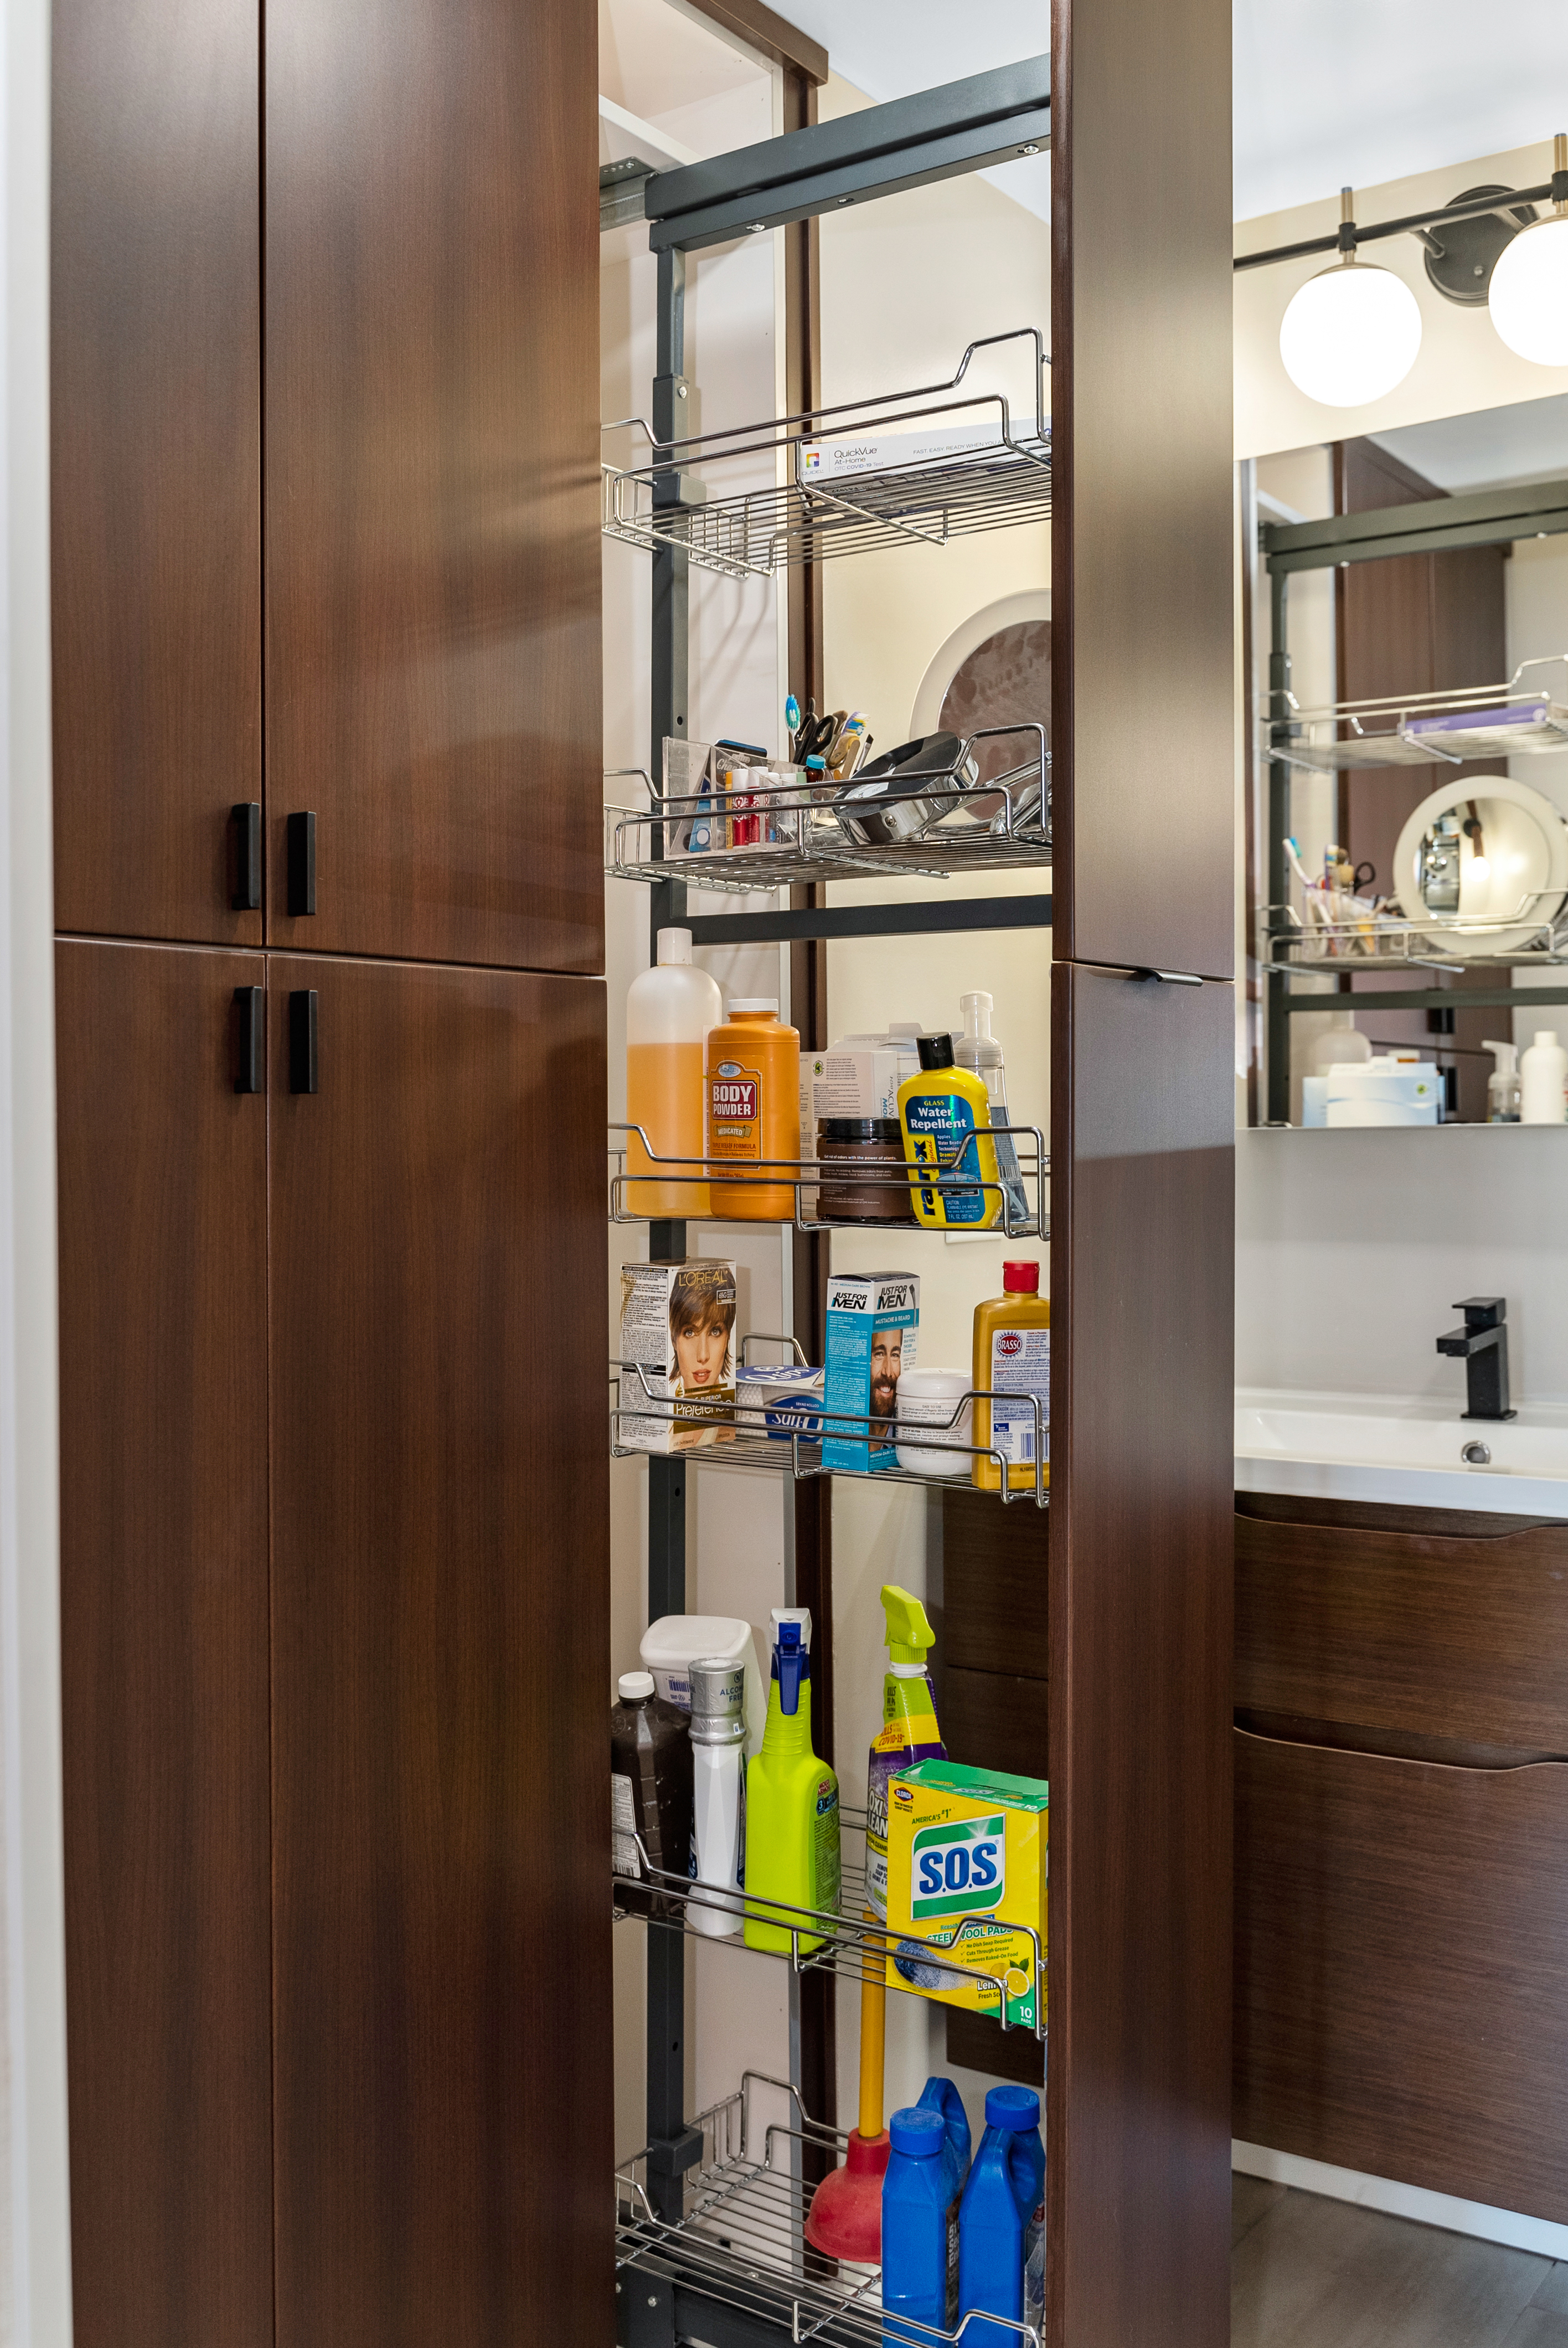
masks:
<path fill-rule="evenodd" d="M 1526 68 L 1528 70 L 1528 68 Z M 1552 178 L 1552 141 L 1481 155 L 1415 178 L 1357 188 L 1357 218 L 1397 221 L 1411 211 L 1453 202 L 1465 188 L 1535 188 Z M 1338 185 L 1324 185 L 1312 204 L 1237 221 L 1237 254 L 1258 254 L 1303 237 L 1331 235 L 1338 225 Z M 1533 366 L 1500 340 L 1488 312 L 1444 301 L 1427 282 L 1415 237 L 1385 237 L 1361 251 L 1364 261 L 1394 270 L 1415 294 L 1422 317 L 1420 357 L 1387 399 L 1364 409 L 1326 409 L 1298 392 L 1279 364 L 1279 319 L 1298 286 L 1333 263 L 1331 254 L 1282 261 L 1263 270 L 1239 270 L 1235 279 L 1235 448 L 1263 456 L 1272 448 L 1305 448 L 1310 441 L 1345 439 L 1357 432 L 1390 432 L 1434 416 L 1469 416 L 1516 399 L 1568 392 L 1568 366 Z"/>

